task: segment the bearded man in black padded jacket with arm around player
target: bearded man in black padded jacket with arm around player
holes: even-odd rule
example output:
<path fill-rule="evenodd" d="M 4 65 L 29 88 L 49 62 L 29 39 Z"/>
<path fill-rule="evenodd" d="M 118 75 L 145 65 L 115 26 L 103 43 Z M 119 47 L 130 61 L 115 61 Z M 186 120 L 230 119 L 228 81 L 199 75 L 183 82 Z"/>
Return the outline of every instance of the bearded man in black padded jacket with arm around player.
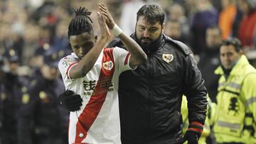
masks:
<path fill-rule="evenodd" d="M 124 144 L 198 143 L 206 118 L 206 88 L 201 72 L 183 43 L 163 34 L 164 11 L 146 4 L 137 12 L 136 31 L 131 37 L 144 49 L 148 60 L 136 70 L 119 77 L 119 113 L 121 140 Z M 110 47 L 122 47 L 114 40 Z M 189 128 L 181 138 L 182 95 L 188 99 Z M 70 110 L 80 104 L 68 104 L 77 97 L 69 91 L 60 101 Z"/>

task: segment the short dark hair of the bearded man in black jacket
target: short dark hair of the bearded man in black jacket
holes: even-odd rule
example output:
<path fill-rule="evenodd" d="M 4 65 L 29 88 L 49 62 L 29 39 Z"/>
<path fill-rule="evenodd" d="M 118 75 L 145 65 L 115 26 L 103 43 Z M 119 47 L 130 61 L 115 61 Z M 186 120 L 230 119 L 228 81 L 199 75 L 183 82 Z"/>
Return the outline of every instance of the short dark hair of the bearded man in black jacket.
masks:
<path fill-rule="evenodd" d="M 137 12 L 137 21 L 140 16 L 144 16 L 146 21 L 151 24 L 159 22 L 161 25 L 164 23 L 164 10 L 156 4 L 146 4 L 142 6 L 141 9 Z"/>

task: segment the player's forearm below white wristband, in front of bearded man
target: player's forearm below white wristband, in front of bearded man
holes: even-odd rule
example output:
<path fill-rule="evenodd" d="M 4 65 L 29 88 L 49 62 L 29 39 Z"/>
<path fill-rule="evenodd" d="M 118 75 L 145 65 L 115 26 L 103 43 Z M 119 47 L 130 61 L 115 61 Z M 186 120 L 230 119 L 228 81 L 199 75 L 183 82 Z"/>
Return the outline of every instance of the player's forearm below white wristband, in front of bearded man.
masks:
<path fill-rule="evenodd" d="M 136 43 L 132 38 L 130 38 L 127 35 L 124 35 L 124 33 L 118 35 L 118 38 L 122 40 L 122 43 L 124 43 L 124 46 L 131 54 L 130 66 L 137 66 L 146 61 L 147 57 L 145 52 L 142 50 L 139 44 Z"/>

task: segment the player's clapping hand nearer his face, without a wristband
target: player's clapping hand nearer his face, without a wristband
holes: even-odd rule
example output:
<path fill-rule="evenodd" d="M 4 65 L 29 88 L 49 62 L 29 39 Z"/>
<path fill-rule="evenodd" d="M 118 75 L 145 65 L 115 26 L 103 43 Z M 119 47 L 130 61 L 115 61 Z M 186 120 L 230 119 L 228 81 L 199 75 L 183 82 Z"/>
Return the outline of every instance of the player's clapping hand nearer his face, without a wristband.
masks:
<path fill-rule="evenodd" d="M 107 26 L 106 17 L 99 11 L 97 12 L 97 16 L 98 16 L 98 22 L 100 24 L 100 31 L 102 33 L 102 36 L 106 38 L 110 38 L 110 29 Z"/>

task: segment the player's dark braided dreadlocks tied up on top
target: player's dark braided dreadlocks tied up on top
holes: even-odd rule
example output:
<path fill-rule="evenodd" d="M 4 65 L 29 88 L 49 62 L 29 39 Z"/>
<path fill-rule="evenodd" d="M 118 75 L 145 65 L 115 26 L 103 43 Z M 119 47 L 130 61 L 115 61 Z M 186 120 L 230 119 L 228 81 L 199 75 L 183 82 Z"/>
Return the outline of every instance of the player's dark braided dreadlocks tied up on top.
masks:
<path fill-rule="evenodd" d="M 75 18 L 72 19 L 68 26 L 68 38 L 70 35 L 80 35 L 82 33 L 93 33 L 92 19 L 89 17 L 92 13 L 85 7 L 74 9 Z"/>

